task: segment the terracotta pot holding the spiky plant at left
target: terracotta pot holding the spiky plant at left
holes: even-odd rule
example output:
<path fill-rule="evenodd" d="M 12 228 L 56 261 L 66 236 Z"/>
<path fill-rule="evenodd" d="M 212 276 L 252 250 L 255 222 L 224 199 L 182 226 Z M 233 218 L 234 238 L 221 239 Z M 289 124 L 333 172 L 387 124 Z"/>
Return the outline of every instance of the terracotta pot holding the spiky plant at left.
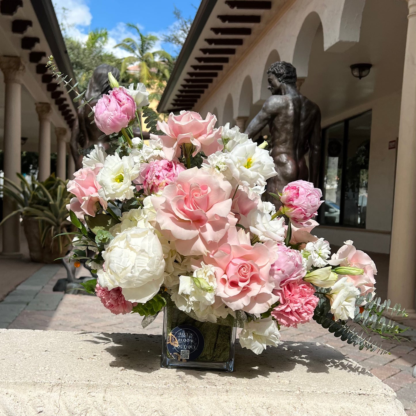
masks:
<path fill-rule="evenodd" d="M 30 260 L 36 263 L 60 263 L 61 260 L 56 260 L 58 257 L 64 257 L 70 247 L 63 247 L 62 251 L 58 250 L 58 246 L 55 243 L 53 245 L 53 250 L 51 249 L 51 237 L 48 236 L 45 241 L 45 247 L 42 247 L 40 244 L 40 232 L 39 232 L 39 222 L 34 218 L 23 217 L 23 230 L 25 231 L 25 236 L 27 244 L 29 246 Z M 65 243 L 66 244 L 66 243 Z"/>

